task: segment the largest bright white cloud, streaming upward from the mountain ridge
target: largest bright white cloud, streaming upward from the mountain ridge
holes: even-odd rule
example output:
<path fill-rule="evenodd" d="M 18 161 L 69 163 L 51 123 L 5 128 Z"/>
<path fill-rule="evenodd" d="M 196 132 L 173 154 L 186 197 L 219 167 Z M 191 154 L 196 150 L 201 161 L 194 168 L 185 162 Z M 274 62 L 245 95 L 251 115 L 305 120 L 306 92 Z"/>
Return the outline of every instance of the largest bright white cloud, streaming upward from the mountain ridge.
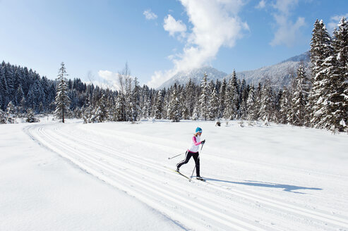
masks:
<path fill-rule="evenodd" d="M 241 0 L 180 1 L 192 25 L 191 31 L 186 32 L 186 43 L 183 51 L 180 54 L 169 56 L 174 63 L 174 68 L 155 72 L 148 82 L 150 87 L 159 87 L 179 71 L 199 68 L 209 63 L 215 58 L 221 46 L 234 46 L 236 39 L 243 36 L 243 31 L 249 30 L 248 24 L 238 17 L 240 8 L 243 6 Z M 167 20 L 168 18 L 169 16 Z M 173 18 L 173 24 L 174 21 L 178 22 Z M 181 21 L 179 23 L 183 24 Z M 169 24 L 165 23 L 164 25 Z M 175 33 L 174 29 L 169 30 L 169 28 L 164 28 L 164 30 L 167 30 L 169 35 L 171 32 Z M 183 31 L 182 29 L 181 32 Z"/>

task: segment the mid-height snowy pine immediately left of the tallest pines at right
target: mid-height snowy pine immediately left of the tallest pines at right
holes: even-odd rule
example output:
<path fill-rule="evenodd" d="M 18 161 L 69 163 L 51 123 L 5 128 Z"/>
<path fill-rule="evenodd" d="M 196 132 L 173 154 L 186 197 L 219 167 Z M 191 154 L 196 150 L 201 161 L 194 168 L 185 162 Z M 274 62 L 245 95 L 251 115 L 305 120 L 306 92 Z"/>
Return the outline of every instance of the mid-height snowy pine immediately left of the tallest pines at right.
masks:
<path fill-rule="evenodd" d="M 309 85 L 306 73 L 304 72 L 304 66 L 299 65 L 296 76 L 296 89 L 294 90 L 294 96 L 292 98 L 292 109 L 294 113 L 293 124 L 297 126 L 307 125 L 308 123 L 308 95 Z"/>

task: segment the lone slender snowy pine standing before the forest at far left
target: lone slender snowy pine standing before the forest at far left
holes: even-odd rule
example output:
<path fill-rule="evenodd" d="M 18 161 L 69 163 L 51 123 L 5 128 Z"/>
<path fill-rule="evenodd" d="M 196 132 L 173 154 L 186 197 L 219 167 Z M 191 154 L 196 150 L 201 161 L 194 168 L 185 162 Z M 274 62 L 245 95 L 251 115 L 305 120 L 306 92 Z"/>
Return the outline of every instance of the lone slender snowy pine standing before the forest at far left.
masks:
<path fill-rule="evenodd" d="M 68 85 L 66 84 L 66 68 L 63 62 L 61 62 L 61 68 L 58 73 L 58 87 L 56 91 L 56 116 L 61 118 L 61 122 L 64 123 L 64 118 L 70 106 L 70 99 L 68 97 Z"/>

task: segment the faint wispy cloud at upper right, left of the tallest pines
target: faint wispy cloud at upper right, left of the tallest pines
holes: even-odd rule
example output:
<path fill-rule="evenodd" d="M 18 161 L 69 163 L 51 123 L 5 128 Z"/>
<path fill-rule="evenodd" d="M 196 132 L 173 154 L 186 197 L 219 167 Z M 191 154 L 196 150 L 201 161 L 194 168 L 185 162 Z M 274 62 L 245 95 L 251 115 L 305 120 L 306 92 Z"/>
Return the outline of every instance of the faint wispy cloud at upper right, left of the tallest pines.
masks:
<path fill-rule="evenodd" d="M 276 12 L 273 13 L 275 22 L 277 23 L 277 31 L 275 37 L 270 42 L 271 46 L 286 45 L 294 46 L 297 38 L 301 34 L 301 27 L 306 25 L 304 18 L 299 17 L 296 23 L 290 20 L 291 11 L 298 4 L 298 0 L 277 0 L 272 7 Z"/>

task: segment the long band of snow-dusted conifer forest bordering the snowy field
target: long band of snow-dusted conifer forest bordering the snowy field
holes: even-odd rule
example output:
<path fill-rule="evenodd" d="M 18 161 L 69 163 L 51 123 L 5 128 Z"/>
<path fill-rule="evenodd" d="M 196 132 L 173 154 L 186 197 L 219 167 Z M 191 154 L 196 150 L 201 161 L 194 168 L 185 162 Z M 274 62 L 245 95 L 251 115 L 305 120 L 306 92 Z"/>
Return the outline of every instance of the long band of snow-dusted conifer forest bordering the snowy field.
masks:
<path fill-rule="evenodd" d="M 47 80 L 28 68 L 3 62 L 0 107 L 3 115 L 24 113 L 28 109 L 35 113 L 55 111 L 59 118 L 83 118 L 85 123 L 224 118 L 347 132 L 347 31 L 345 18 L 332 36 L 323 20 L 316 20 L 311 39 L 311 74 L 306 75 L 304 65 L 299 65 L 296 73 L 289 73 L 291 81 L 282 89 L 267 77 L 256 85 L 247 84 L 236 78 L 235 71 L 228 80 L 213 82 L 205 75 L 200 85 L 189 80 L 186 85 L 152 89 L 146 85 L 140 87 L 126 65 L 119 72 L 119 89 L 111 90 L 86 85 L 80 79 L 67 80 L 64 63 L 59 78 Z"/>

